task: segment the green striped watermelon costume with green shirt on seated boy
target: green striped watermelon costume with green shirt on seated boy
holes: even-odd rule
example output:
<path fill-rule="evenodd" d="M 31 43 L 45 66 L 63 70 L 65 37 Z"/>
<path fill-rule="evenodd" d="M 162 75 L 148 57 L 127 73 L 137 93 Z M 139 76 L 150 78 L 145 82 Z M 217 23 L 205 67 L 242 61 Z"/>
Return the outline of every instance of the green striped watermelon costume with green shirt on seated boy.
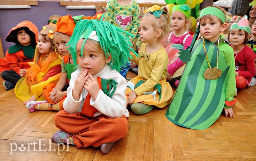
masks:
<path fill-rule="evenodd" d="M 211 67 L 216 67 L 217 46 L 205 40 Z M 216 80 L 206 80 L 204 71 L 209 68 L 202 39 L 195 42 L 191 60 L 183 71 L 180 84 L 166 111 L 166 117 L 176 125 L 203 130 L 220 116 L 225 100 L 235 94 L 235 62 L 233 49 L 225 42 L 219 43 L 219 65 L 222 75 Z M 227 108 L 226 106 L 224 108 Z"/>

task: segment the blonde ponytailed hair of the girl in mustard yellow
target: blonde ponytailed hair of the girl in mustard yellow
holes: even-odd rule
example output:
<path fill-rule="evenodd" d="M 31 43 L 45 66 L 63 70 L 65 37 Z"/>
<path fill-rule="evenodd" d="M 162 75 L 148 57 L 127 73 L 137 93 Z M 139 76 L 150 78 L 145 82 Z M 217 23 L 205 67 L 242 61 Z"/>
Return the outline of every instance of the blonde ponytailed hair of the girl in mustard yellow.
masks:
<path fill-rule="evenodd" d="M 143 15 L 142 20 L 151 22 L 151 25 L 154 28 L 154 31 L 157 31 L 158 29 L 162 30 L 162 34 L 159 36 L 158 40 L 161 41 L 164 39 L 168 33 L 169 33 L 169 25 L 170 25 L 170 11 L 167 6 L 164 6 L 163 11 L 166 12 L 166 17 L 165 16 L 160 16 L 160 17 L 155 17 L 152 13 L 147 12 Z"/>

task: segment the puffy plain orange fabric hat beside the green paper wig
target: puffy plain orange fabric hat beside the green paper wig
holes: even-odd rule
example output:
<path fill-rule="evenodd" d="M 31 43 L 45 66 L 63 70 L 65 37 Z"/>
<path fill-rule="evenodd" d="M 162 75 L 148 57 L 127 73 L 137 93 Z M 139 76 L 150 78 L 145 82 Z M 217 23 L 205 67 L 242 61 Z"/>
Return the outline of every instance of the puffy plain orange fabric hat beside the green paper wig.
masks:
<path fill-rule="evenodd" d="M 75 25 L 75 20 L 70 15 L 62 16 L 58 19 L 54 32 L 71 36 L 73 34 Z"/>

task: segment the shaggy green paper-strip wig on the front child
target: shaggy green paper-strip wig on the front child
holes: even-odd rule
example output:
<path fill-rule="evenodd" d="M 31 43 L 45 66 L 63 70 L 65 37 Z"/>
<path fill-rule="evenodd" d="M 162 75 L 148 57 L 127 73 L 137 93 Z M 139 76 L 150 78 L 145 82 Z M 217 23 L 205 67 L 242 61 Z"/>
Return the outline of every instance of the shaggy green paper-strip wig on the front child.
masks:
<path fill-rule="evenodd" d="M 107 56 L 112 56 L 110 63 L 108 63 L 112 69 L 120 71 L 122 65 L 130 62 L 129 58 L 132 59 L 130 51 L 139 57 L 133 50 L 129 38 L 124 36 L 124 34 L 127 34 L 134 37 L 132 34 L 108 22 L 95 19 L 83 19 L 76 24 L 73 35 L 67 44 L 70 45 L 69 49 L 75 65 L 77 65 L 76 44 L 78 40 L 85 39 L 81 47 L 82 56 L 84 44 L 92 31 L 96 31 L 99 43 L 102 50 L 105 52 L 106 58 Z"/>

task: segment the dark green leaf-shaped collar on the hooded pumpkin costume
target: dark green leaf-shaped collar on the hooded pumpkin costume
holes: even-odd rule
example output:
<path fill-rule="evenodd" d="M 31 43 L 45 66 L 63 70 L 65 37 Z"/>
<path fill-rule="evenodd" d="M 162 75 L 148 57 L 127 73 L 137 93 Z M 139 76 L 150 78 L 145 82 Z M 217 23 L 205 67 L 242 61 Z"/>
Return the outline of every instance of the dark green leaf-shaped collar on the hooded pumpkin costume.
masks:
<path fill-rule="evenodd" d="M 15 44 L 14 46 L 11 46 L 9 48 L 9 54 L 16 53 L 21 49 L 23 49 L 23 53 L 26 58 L 32 59 L 34 57 L 35 47 L 33 47 L 32 45 L 23 46 L 21 44 Z"/>

